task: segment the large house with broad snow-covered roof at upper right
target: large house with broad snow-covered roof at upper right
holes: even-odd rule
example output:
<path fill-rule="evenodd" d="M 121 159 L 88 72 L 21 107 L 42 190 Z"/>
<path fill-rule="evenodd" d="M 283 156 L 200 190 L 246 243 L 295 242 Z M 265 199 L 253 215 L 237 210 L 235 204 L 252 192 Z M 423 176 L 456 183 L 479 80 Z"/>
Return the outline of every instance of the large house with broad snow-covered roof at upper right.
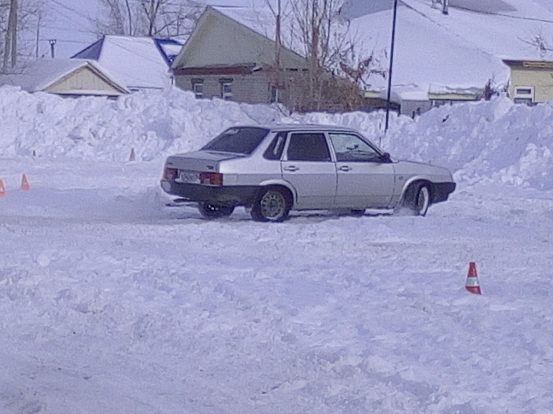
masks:
<path fill-rule="evenodd" d="M 533 45 L 540 35 L 553 42 L 553 12 L 533 0 L 449 0 L 447 13 L 444 4 L 433 3 L 441 2 L 402 0 L 398 7 L 392 96 L 403 113 L 480 99 L 489 87 L 508 89 L 513 99 L 518 87 L 541 91 L 533 102 L 553 98 L 553 85 L 543 76 L 553 54 Z M 387 67 L 392 2 L 347 0 L 343 14 L 364 47 L 387 51 L 380 59 Z M 520 77 L 517 61 L 541 63 L 526 64 Z M 387 79 L 374 79 L 367 89 L 371 96 L 386 93 Z"/>

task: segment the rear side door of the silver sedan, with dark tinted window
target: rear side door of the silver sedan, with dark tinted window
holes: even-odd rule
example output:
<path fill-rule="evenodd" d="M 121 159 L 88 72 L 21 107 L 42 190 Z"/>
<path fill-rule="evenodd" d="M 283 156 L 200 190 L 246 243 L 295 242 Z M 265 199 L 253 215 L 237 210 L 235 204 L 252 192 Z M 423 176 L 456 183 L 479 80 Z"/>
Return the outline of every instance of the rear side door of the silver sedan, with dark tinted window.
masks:
<path fill-rule="evenodd" d="M 280 164 L 283 178 L 296 189 L 296 208 L 333 206 L 336 166 L 324 132 L 290 132 Z"/>

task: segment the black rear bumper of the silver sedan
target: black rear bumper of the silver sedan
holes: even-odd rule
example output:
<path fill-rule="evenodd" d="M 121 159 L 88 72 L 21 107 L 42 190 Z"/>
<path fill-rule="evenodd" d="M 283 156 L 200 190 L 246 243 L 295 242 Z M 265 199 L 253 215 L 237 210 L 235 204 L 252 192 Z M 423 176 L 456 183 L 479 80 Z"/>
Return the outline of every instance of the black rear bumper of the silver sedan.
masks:
<path fill-rule="evenodd" d="M 165 193 L 176 195 L 190 201 L 211 201 L 223 205 L 252 204 L 257 197 L 259 187 L 253 185 L 223 185 L 211 187 L 201 184 L 185 184 L 171 180 L 161 180 Z"/>

